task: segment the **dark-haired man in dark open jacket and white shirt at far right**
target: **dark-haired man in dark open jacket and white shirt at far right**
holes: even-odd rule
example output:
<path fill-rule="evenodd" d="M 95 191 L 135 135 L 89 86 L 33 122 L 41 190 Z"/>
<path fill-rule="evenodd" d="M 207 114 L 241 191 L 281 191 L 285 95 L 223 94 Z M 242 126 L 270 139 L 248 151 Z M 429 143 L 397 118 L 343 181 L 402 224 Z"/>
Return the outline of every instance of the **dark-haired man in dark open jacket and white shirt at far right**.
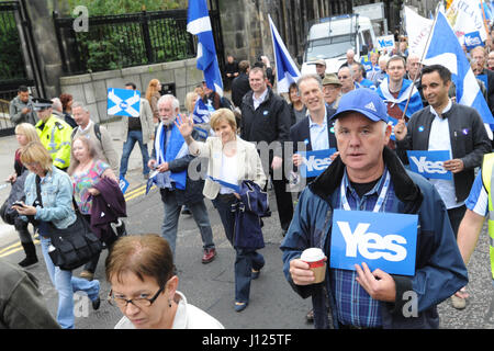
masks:
<path fill-rule="evenodd" d="M 453 180 L 429 181 L 448 208 L 456 236 L 467 210 L 464 200 L 473 184 L 474 168 L 480 167 L 484 154 L 491 151 L 491 140 L 479 113 L 449 99 L 450 86 L 451 72 L 446 67 L 425 67 L 422 87 L 430 106 L 414 113 L 408 126 L 400 120 L 394 134 L 397 150 L 450 150 L 452 159 L 445 161 L 444 168 L 453 173 Z"/>

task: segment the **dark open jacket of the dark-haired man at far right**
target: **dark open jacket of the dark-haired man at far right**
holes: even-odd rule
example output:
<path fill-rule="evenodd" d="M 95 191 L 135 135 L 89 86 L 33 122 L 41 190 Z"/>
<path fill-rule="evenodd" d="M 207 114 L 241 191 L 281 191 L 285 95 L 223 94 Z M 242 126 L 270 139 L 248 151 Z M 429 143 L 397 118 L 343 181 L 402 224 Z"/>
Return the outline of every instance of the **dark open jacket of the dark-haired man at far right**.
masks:
<path fill-rule="evenodd" d="M 474 168 L 480 167 L 483 156 L 491 152 L 491 140 L 476 110 L 453 102 L 451 110 L 444 116 L 448 118 L 452 158 L 461 159 L 464 165 L 462 172 L 453 174 L 457 202 L 461 202 L 468 197 L 472 188 Z M 408 121 L 405 138 L 396 143 L 396 150 L 427 150 L 434 118 L 430 106 L 414 113 Z"/>

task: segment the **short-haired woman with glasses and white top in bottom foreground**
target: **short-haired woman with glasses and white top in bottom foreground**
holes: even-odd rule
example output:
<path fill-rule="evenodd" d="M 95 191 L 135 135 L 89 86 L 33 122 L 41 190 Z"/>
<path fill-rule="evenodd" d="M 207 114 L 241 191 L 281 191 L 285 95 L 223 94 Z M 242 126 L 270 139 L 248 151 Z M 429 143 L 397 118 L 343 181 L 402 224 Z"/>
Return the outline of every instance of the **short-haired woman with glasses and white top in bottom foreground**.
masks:
<path fill-rule="evenodd" d="M 106 258 L 109 301 L 124 317 L 115 329 L 223 329 L 177 291 L 173 256 L 159 235 L 119 239 Z"/>

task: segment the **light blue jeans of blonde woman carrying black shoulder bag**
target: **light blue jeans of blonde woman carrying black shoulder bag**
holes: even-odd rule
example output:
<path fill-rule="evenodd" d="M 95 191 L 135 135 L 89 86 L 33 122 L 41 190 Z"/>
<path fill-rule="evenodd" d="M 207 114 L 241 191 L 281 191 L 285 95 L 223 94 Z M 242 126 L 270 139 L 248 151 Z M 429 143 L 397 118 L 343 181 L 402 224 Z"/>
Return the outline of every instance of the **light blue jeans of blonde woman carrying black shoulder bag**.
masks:
<path fill-rule="evenodd" d="M 78 291 L 86 292 L 89 299 L 94 301 L 100 293 L 100 282 L 97 280 L 89 282 L 85 279 L 72 276 L 71 271 L 64 271 L 55 267 L 48 254 L 50 242 L 49 239 L 41 237 L 41 247 L 43 257 L 45 258 L 46 269 L 48 270 L 53 285 L 58 292 L 57 321 L 64 329 L 74 329 L 74 293 Z"/>

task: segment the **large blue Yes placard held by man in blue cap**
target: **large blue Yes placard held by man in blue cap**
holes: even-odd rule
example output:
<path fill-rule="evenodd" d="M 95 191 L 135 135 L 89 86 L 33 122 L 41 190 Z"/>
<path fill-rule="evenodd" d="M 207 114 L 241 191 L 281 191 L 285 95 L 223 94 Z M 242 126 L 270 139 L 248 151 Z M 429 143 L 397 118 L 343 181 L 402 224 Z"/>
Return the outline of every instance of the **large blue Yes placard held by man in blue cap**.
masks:
<path fill-rule="evenodd" d="M 335 210 L 329 267 L 355 271 L 366 262 L 371 271 L 414 275 L 417 215 Z"/>

